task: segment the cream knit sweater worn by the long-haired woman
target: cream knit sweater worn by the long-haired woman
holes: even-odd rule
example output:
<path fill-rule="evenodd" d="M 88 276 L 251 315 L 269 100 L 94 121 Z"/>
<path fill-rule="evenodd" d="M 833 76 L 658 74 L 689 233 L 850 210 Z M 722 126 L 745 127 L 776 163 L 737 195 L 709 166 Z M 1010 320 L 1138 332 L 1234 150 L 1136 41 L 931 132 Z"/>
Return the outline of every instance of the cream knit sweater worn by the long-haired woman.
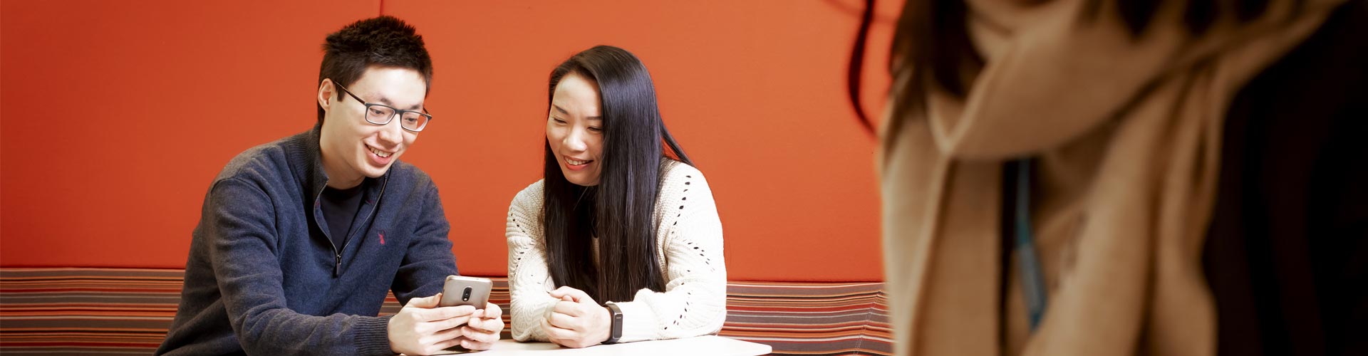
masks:
<path fill-rule="evenodd" d="M 509 242 L 512 330 L 517 341 L 547 341 L 539 320 L 557 301 L 547 294 L 557 286 L 546 267 L 542 197 L 542 181 L 536 181 L 509 204 L 505 237 Z M 655 236 L 655 257 L 665 275 L 665 292 L 642 289 L 631 301 L 614 301 L 622 309 L 620 341 L 717 333 L 726 319 L 722 223 L 717 218 L 713 190 L 696 168 L 673 160 L 662 164 Z"/>

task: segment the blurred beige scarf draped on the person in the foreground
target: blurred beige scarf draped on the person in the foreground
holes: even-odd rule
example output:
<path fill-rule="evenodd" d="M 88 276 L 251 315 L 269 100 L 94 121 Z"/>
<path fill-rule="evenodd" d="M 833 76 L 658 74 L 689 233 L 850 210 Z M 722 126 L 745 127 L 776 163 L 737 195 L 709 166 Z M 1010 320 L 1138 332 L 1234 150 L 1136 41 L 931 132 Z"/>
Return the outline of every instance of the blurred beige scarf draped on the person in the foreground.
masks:
<path fill-rule="evenodd" d="M 970 0 L 985 67 L 967 97 L 930 92 L 897 131 L 885 125 L 884 263 L 899 355 L 1215 353 L 1201 246 L 1226 108 L 1339 1 L 1290 11 L 1271 0 L 1253 22 L 1222 18 L 1200 37 L 1182 25 L 1183 4 L 1164 1 L 1140 38 L 1115 8 L 1085 19 L 1083 3 Z M 1001 275 L 999 255 L 1010 248 L 1001 163 L 1023 156 L 1038 159 L 1031 215 L 1049 297 L 1034 334 L 1018 271 Z"/>

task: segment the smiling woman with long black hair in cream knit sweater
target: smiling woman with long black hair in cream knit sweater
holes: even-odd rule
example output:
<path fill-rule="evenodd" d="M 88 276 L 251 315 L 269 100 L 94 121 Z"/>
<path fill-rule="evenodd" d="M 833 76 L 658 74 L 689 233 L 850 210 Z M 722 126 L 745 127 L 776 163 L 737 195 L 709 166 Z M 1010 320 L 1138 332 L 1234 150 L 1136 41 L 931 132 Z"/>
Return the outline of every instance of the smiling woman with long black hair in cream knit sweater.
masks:
<path fill-rule="evenodd" d="M 509 207 L 513 337 L 581 348 L 720 330 L 722 225 L 646 66 L 590 48 L 551 71 L 549 96 L 543 179 Z"/>

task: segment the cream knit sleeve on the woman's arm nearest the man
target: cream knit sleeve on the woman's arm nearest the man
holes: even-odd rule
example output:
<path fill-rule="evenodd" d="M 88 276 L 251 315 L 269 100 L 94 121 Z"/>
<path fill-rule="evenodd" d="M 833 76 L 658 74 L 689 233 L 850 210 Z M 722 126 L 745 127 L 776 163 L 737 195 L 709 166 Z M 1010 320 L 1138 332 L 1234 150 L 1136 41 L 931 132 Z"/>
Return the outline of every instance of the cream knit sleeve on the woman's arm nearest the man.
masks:
<path fill-rule="evenodd" d="M 518 192 L 509 204 L 503 231 L 509 244 L 510 331 L 517 341 L 549 341 L 540 320 L 557 301 L 549 294 L 555 283 L 546 267 L 542 201 L 542 181 Z"/>

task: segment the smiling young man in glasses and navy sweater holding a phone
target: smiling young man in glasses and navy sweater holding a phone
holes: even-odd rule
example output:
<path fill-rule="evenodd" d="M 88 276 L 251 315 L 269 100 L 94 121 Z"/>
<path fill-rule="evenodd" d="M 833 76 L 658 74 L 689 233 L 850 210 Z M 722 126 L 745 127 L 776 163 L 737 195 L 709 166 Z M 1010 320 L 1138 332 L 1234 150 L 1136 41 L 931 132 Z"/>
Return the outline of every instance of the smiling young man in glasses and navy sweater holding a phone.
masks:
<path fill-rule="evenodd" d="M 488 349 L 495 304 L 436 307 L 457 274 L 432 179 L 398 162 L 427 129 L 432 60 L 391 16 L 324 42 L 319 123 L 219 174 L 157 355 L 430 355 Z M 397 315 L 375 316 L 394 292 Z"/>

